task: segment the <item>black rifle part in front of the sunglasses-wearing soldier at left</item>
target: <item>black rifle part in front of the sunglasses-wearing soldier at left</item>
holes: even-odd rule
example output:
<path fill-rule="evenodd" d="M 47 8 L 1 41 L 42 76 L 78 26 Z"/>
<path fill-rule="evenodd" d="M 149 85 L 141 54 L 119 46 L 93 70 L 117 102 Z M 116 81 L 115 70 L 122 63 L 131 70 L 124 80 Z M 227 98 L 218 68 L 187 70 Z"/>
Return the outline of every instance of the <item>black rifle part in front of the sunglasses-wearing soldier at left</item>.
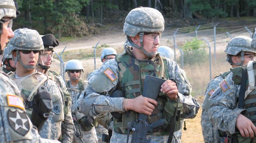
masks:
<path fill-rule="evenodd" d="M 54 113 L 51 112 L 52 98 L 46 87 L 38 87 L 36 95 L 29 105 L 33 107 L 30 118 L 31 122 L 36 126 L 39 132 L 48 117 L 54 116 Z"/>

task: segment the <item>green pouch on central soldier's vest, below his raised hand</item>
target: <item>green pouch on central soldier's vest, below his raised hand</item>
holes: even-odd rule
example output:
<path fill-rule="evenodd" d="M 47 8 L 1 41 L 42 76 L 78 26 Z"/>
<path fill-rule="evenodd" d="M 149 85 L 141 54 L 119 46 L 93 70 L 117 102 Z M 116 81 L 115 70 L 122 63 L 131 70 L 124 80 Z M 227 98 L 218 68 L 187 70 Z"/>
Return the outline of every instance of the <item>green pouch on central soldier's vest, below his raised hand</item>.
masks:
<path fill-rule="evenodd" d="M 180 130 L 180 115 L 182 114 L 182 103 L 177 102 L 177 100 L 175 101 L 168 100 L 164 105 L 164 124 L 166 127 L 168 125 L 175 124 L 174 131 Z M 177 113 L 175 116 L 176 110 L 177 110 Z"/>

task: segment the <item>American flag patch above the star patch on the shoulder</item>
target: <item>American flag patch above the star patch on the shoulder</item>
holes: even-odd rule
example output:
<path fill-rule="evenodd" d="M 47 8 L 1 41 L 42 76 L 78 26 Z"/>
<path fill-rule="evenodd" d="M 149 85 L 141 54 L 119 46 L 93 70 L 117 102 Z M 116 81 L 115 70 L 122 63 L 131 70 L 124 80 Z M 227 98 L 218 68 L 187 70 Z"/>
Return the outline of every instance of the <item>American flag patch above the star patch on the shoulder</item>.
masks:
<path fill-rule="evenodd" d="M 8 103 L 8 106 L 18 107 L 22 110 L 25 109 L 23 104 L 23 99 L 17 95 L 7 94 L 7 103 Z"/>

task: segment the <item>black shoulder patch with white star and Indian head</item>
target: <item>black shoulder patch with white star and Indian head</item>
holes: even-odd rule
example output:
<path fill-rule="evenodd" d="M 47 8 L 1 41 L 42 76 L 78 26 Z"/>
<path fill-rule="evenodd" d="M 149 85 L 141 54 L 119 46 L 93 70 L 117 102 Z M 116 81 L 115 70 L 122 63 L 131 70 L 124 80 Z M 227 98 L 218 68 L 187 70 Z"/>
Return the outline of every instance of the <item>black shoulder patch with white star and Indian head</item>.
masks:
<path fill-rule="evenodd" d="M 17 133 L 25 136 L 29 129 L 29 121 L 26 112 L 19 112 L 19 111 L 8 111 L 8 121 L 12 129 Z"/>

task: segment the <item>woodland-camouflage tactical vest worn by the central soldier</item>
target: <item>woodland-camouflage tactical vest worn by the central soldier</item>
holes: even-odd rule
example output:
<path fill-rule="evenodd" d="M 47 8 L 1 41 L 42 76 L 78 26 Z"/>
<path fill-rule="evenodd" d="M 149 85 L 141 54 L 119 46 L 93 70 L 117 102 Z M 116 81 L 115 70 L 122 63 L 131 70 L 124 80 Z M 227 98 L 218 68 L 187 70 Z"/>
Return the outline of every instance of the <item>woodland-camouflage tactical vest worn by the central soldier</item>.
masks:
<path fill-rule="evenodd" d="M 127 53 L 128 52 L 128 53 Z M 163 78 L 168 79 L 169 74 L 166 66 L 166 59 L 163 58 L 161 63 L 161 57 L 157 54 L 152 60 L 137 60 L 129 50 L 126 49 L 126 53 L 118 54 L 116 56 L 119 69 L 119 83 L 118 89 L 123 92 L 123 96 L 126 99 L 133 99 L 142 95 L 144 80 L 146 75 L 162 78 L 161 68 L 164 66 Z M 155 107 L 152 115 L 147 119 L 147 123 L 151 124 L 154 121 L 164 118 L 164 105 L 167 101 L 167 95 L 160 93 L 157 97 L 157 107 Z M 113 117 L 114 130 L 119 134 L 127 134 L 127 124 L 135 121 L 138 118 L 138 113 L 135 111 L 128 111 L 128 113 L 122 114 L 122 121 Z M 153 135 L 169 134 L 170 126 L 166 129 L 161 127 L 153 130 Z M 160 133 L 161 132 L 161 133 Z"/>

